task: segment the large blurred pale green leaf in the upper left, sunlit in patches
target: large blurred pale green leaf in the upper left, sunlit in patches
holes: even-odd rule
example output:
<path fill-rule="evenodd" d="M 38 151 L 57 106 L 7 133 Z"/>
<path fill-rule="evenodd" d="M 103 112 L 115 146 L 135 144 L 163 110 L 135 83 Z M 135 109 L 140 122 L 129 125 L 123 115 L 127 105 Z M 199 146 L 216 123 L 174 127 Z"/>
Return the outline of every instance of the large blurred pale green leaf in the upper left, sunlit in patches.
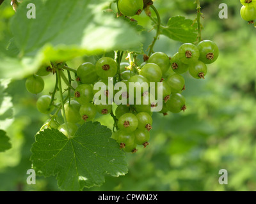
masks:
<path fill-rule="evenodd" d="M 26 6 L 36 6 L 36 18 L 27 18 Z M 141 36 L 122 18 L 102 8 L 108 1 L 23 1 L 11 20 L 15 45 L 0 53 L 2 78 L 22 78 L 45 61 L 69 61 L 109 50 L 140 50 Z M 12 43 L 12 42 L 11 42 Z M 15 57 L 14 57 L 15 55 Z"/>

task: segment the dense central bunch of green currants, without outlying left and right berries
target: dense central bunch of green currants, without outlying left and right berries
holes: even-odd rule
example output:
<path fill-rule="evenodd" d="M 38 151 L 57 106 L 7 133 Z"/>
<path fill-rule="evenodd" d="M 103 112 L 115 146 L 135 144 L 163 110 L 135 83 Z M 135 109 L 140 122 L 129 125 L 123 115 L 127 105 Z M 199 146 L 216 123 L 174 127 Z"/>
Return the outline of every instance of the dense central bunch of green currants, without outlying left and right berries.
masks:
<path fill-rule="evenodd" d="M 157 53 L 156 53 L 157 54 Z M 95 117 L 95 113 L 99 112 L 102 115 L 107 115 L 111 113 L 112 117 L 115 119 L 116 131 L 113 132 L 112 138 L 114 138 L 120 145 L 120 149 L 124 149 L 125 152 L 136 152 L 136 145 L 143 145 L 147 147 L 148 140 L 150 138 L 150 130 L 152 129 L 152 108 L 156 107 L 157 104 L 155 101 L 150 102 L 150 89 L 143 89 L 140 87 L 138 92 L 140 94 L 139 98 L 136 98 L 136 87 L 134 87 L 134 94 L 129 94 L 129 83 L 138 83 L 141 85 L 143 83 L 147 84 L 149 87 L 150 82 L 161 82 L 162 79 L 162 69 L 164 72 L 170 67 L 170 59 L 167 55 L 163 55 L 165 58 L 161 60 L 157 58 L 155 54 L 148 59 L 148 63 L 141 64 L 140 67 L 136 66 L 136 57 L 134 61 L 122 62 L 120 64 L 116 63 L 111 57 L 102 57 L 100 58 L 95 66 L 91 63 L 84 63 L 77 69 L 77 80 L 80 81 L 81 85 L 76 88 L 75 96 L 76 101 L 81 103 L 80 115 L 84 121 L 92 120 Z M 161 54 L 162 55 L 162 54 Z M 131 54 L 129 54 L 128 59 L 131 59 Z M 161 64 L 161 68 L 156 63 Z M 150 63 L 151 62 L 151 63 Z M 90 66 L 88 66 L 90 64 Z M 93 77 L 94 76 L 94 77 Z M 90 82 L 88 81 L 90 78 Z M 109 80 L 109 78 L 113 78 Z M 79 89 L 79 87 L 84 86 L 84 84 L 92 83 L 99 84 L 102 83 L 103 86 L 99 90 L 93 90 L 93 94 L 87 87 L 86 91 L 84 89 Z M 126 90 L 113 91 L 110 89 L 110 84 L 115 85 L 118 82 L 125 84 Z M 165 82 L 164 82 L 165 83 Z M 103 88 L 104 87 L 104 88 Z M 168 101 L 170 98 L 170 87 L 168 84 L 163 86 L 164 97 Z M 116 96 L 118 92 L 118 98 L 120 100 L 124 99 L 125 104 L 118 104 L 115 114 L 113 113 L 113 97 Z M 84 93 L 90 94 L 84 94 Z M 97 103 L 97 99 L 93 98 L 93 95 L 100 93 L 100 98 L 106 97 L 106 101 L 111 101 L 109 104 L 100 104 Z M 154 94 L 157 94 L 157 91 Z M 112 98 L 111 98 L 112 96 Z M 109 100 L 110 99 L 110 100 Z M 137 103 L 138 100 L 141 103 Z M 91 103 L 89 102 L 91 101 Z M 132 101 L 132 104 L 129 102 Z M 86 102 L 86 103 L 84 103 Z M 94 103 L 94 105 L 92 104 Z M 88 108 L 90 106 L 90 108 Z"/>

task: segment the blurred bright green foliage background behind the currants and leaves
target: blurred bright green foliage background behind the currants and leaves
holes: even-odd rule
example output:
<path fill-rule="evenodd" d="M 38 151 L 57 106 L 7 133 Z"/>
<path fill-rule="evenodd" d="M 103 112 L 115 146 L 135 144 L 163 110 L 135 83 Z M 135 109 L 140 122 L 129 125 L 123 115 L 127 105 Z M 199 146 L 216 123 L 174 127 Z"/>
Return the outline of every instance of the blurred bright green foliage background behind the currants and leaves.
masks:
<path fill-rule="evenodd" d="M 218 17 L 221 3 L 228 5 L 227 19 Z M 196 5 L 191 0 L 156 0 L 154 4 L 164 24 L 176 15 L 196 18 Z M 103 186 L 85 191 L 256 190 L 256 29 L 240 17 L 239 0 L 205 0 L 201 4 L 202 38 L 217 43 L 218 61 L 208 66 L 205 80 L 184 75 L 188 109 L 165 117 L 154 113 L 150 145 L 137 154 L 127 154 L 127 175 L 107 175 Z M 9 32 L 13 13 L 6 0 L 0 6 L 0 33 Z M 146 27 L 143 36 L 147 48 L 155 31 L 150 31 L 152 24 L 145 13 L 136 20 Z M 180 45 L 161 36 L 154 51 L 172 56 Z M 69 64 L 77 68 L 85 60 L 90 57 Z M 45 84 L 47 93 L 53 87 L 52 78 L 45 78 Z M 54 177 L 36 177 L 36 185 L 26 184 L 31 144 L 47 120 L 36 110 L 38 96 L 26 91 L 24 80 L 13 81 L 7 92 L 13 97 L 15 119 L 0 120 L 0 127 L 8 131 L 13 148 L 0 153 L 0 191 L 58 191 Z M 112 127 L 111 117 L 99 120 Z M 13 122 L 12 126 L 8 122 Z M 228 171 L 228 185 L 218 182 L 221 169 Z"/>

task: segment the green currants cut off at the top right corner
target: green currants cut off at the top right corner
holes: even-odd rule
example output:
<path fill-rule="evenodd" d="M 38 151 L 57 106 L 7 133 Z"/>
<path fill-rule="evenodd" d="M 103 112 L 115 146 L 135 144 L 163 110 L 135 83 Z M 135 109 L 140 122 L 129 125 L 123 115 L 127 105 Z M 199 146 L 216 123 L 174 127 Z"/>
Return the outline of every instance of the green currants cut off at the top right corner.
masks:
<path fill-rule="evenodd" d="M 256 0 L 240 0 L 243 6 L 241 7 L 241 17 L 248 21 L 249 24 L 253 24 L 256 19 Z"/>

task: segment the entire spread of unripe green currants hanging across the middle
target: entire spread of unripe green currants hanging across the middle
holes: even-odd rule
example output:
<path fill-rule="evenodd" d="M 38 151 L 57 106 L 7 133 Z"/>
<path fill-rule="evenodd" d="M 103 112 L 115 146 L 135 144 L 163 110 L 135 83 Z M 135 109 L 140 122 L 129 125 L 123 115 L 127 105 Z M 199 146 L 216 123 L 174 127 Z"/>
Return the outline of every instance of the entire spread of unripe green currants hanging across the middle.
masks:
<path fill-rule="evenodd" d="M 66 122 L 60 124 L 58 117 L 52 117 L 51 120 L 45 122 L 43 127 L 56 128 L 66 136 L 73 136 L 77 131 L 77 126 L 92 121 L 97 112 L 102 115 L 110 113 L 115 119 L 114 128 L 116 129 L 112 138 L 119 143 L 121 149 L 124 149 L 125 152 L 136 152 L 136 145 L 147 147 L 152 129 L 152 111 L 158 105 L 155 100 L 158 92 L 163 93 L 163 98 L 161 98 L 163 108 L 160 113 L 166 115 L 168 112 L 179 113 L 186 110 L 186 100 L 181 94 L 185 90 L 185 80 L 181 74 L 189 71 L 195 78 L 204 78 L 207 73 L 205 63 L 216 61 L 218 47 L 209 40 L 201 41 L 198 45 L 185 43 L 180 46 L 179 52 L 173 55 L 172 59 L 163 52 L 155 52 L 150 57 L 145 55 L 145 62 L 140 66 L 137 66 L 135 56 L 131 60 L 132 57 L 129 54 L 129 63 L 118 64 L 111 57 L 101 57 L 95 64 L 91 62 L 81 64 L 76 71 L 78 85 L 76 89 L 73 89 L 73 96 L 65 101 L 62 108 L 62 116 L 65 117 Z M 42 92 L 44 89 L 42 76 L 46 76 L 50 72 L 56 73 L 52 70 L 54 68 L 51 66 L 44 66 L 36 75 L 29 77 L 26 81 L 28 91 L 33 94 Z M 67 82 L 62 69 L 59 70 L 59 74 Z M 103 84 L 100 91 L 93 89 L 94 85 L 99 82 Z M 110 96 L 115 96 L 120 91 L 109 89 L 109 82 L 113 85 L 118 82 L 127 85 L 126 91 L 119 96 L 120 99 L 124 98 L 126 103 L 118 104 L 115 114 L 113 113 L 113 99 L 110 100 L 111 103 L 97 103 L 102 96 L 109 101 Z M 137 103 L 136 94 L 129 95 L 129 82 L 138 83 L 138 85 L 148 84 L 146 90 L 140 87 L 141 103 Z M 155 83 L 154 91 L 149 86 L 150 82 Z M 157 87 L 157 82 L 162 85 L 160 89 Z M 134 93 L 136 91 L 136 87 L 134 87 Z M 100 93 L 100 98 L 95 99 L 97 93 Z M 153 99 L 150 95 L 154 96 Z M 45 114 L 51 113 L 55 108 L 54 100 L 54 95 L 40 96 L 36 102 L 38 111 Z M 129 104 L 131 101 L 134 103 Z"/>

